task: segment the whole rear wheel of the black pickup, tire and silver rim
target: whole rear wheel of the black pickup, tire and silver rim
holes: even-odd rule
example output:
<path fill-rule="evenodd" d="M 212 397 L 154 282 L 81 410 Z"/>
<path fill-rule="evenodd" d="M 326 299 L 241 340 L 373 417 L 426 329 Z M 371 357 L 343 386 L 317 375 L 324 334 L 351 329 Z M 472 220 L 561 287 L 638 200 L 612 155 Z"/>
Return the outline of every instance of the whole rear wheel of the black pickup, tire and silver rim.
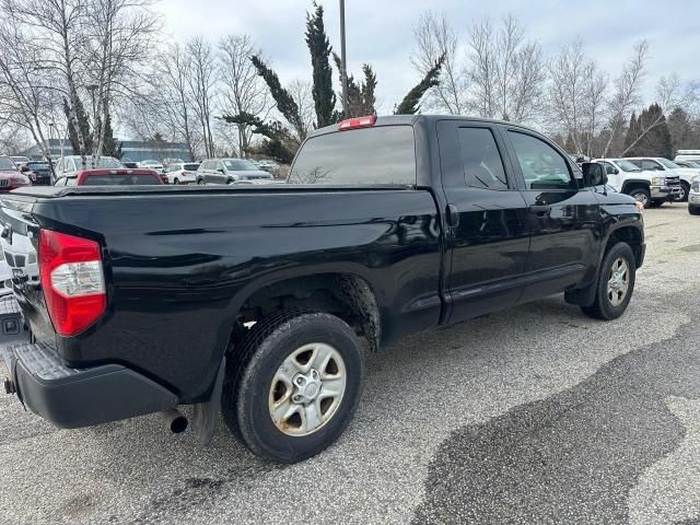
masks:
<path fill-rule="evenodd" d="M 250 328 L 226 362 L 222 411 L 255 454 L 296 463 L 343 432 L 364 360 L 352 329 L 325 313 L 282 311 Z"/>

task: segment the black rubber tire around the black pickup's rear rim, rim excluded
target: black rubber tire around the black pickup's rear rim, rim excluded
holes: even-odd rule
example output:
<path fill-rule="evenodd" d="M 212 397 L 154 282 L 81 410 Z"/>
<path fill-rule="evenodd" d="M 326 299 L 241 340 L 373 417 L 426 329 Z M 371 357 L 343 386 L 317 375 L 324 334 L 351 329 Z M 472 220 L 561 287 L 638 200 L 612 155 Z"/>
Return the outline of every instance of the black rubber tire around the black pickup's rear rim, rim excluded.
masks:
<path fill-rule="evenodd" d="M 282 362 L 300 347 L 323 342 L 336 349 L 347 380 L 337 409 L 315 432 L 293 436 L 272 421 L 268 397 Z M 254 454 L 277 463 L 314 456 L 343 432 L 362 389 L 364 357 L 357 336 L 340 318 L 304 311 L 277 312 L 256 323 L 226 360 L 221 407 L 226 427 Z"/>

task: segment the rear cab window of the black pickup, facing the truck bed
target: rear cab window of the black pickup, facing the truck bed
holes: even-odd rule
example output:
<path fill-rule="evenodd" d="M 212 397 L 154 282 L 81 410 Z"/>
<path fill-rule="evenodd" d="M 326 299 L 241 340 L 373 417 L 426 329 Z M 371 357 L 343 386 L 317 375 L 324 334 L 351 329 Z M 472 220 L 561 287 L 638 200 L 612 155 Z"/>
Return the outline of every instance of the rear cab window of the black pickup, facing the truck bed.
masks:
<path fill-rule="evenodd" d="M 290 184 L 416 184 L 416 144 L 409 125 L 376 126 L 312 137 L 292 165 Z"/>

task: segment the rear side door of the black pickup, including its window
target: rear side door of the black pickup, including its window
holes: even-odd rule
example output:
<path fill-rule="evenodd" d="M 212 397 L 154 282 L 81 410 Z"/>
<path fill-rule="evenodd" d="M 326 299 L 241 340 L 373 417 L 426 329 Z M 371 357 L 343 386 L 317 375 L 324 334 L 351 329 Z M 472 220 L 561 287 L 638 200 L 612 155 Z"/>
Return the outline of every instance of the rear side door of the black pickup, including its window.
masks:
<path fill-rule="evenodd" d="M 438 122 L 448 206 L 448 322 L 517 302 L 527 261 L 527 212 L 494 126 Z"/>

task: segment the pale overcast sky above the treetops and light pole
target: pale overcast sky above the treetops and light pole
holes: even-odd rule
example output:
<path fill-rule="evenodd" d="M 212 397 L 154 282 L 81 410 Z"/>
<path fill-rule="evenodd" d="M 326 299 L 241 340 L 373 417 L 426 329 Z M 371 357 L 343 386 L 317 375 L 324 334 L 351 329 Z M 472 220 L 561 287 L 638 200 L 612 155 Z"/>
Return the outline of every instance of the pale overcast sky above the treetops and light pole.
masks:
<path fill-rule="evenodd" d="M 305 12 L 311 0 L 161 0 L 172 38 L 185 42 L 203 35 L 212 40 L 228 33 L 253 35 L 283 83 L 308 79 L 311 63 L 304 43 Z M 340 49 L 338 1 L 322 1 L 330 43 Z M 634 43 L 646 38 L 650 60 L 645 93 L 658 77 L 677 72 L 686 81 L 700 79 L 700 2 L 695 0 L 347 0 L 348 70 L 355 77 L 363 62 L 377 74 L 380 113 L 388 113 L 418 81 L 409 56 L 412 27 L 427 7 L 444 12 L 466 35 L 475 20 L 512 13 L 529 38 L 547 55 L 580 35 L 593 56 L 614 77 Z M 335 74 L 335 72 L 334 72 Z M 336 78 L 334 75 L 334 82 Z"/>

